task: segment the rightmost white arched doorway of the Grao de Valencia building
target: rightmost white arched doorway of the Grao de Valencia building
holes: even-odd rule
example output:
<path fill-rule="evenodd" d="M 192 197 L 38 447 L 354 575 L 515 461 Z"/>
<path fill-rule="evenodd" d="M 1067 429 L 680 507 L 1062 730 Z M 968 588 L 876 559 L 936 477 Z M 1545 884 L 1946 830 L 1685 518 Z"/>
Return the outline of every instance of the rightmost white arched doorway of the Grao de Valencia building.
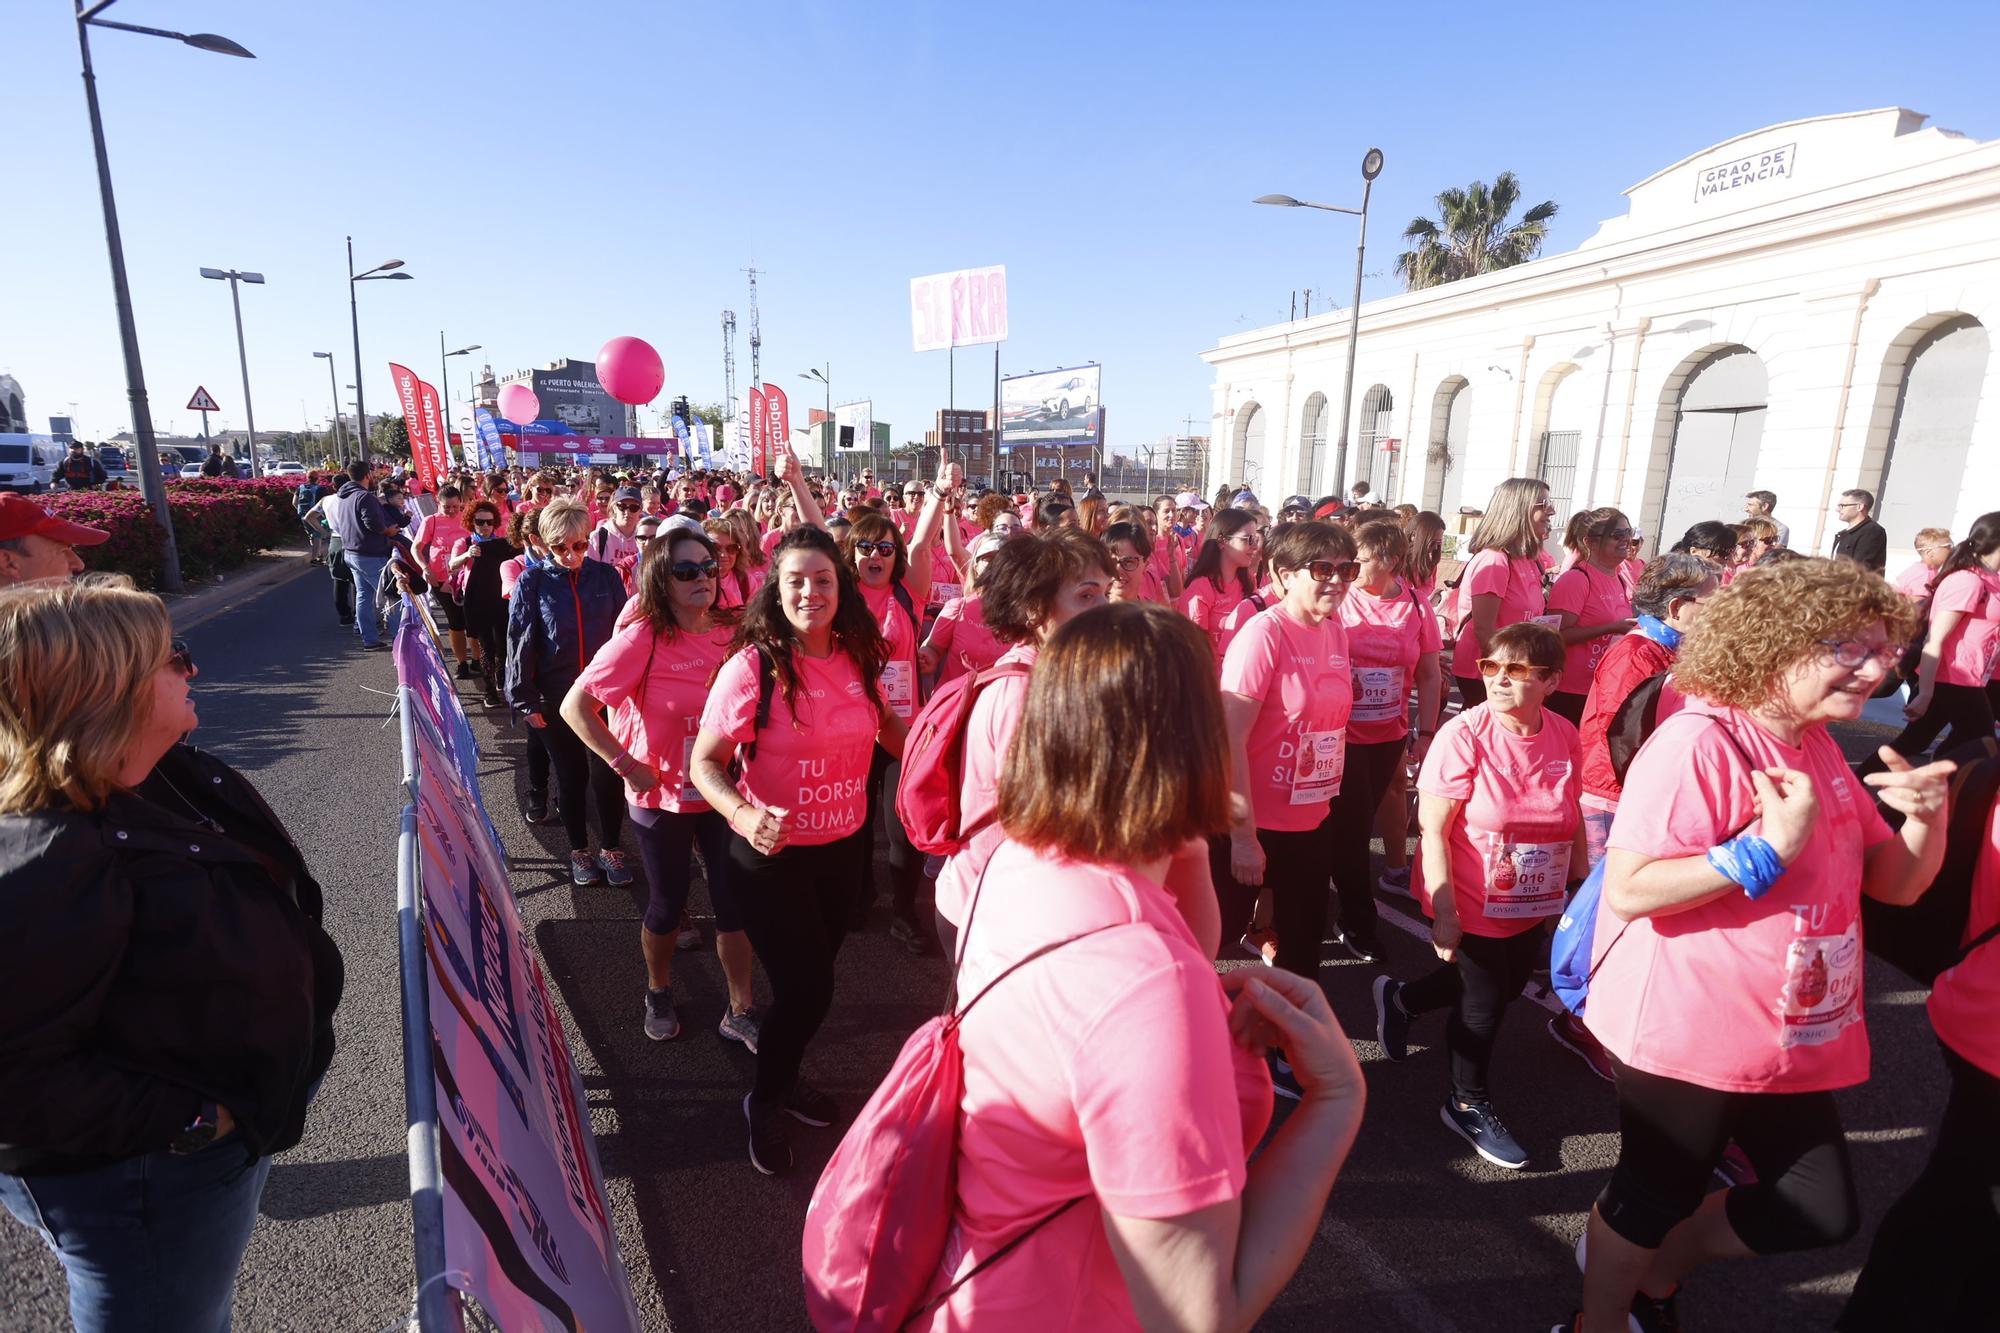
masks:
<path fill-rule="evenodd" d="M 1888 528 L 1890 546 L 1912 544 L 1922 526 L 1954 522 L 1988 354 L 1986 328 L 1970 314 L 1948 318 L 1910 348 L 1876 486 L 1876 522 Z"/>

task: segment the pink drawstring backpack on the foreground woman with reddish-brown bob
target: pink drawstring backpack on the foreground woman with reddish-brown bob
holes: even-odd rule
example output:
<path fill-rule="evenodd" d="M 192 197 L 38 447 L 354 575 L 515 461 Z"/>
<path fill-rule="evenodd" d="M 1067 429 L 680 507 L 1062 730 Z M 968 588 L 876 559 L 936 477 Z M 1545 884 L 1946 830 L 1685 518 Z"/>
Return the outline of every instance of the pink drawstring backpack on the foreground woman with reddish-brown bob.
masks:
<path fill-rule="evenodd" d="M 980 879 L 984 883 L 984 875 Z M 904 1329 L 1084 1201 L 1078 1197 L 1050 1209 L 1012 1241 L 980 1259 L 970 1273 L 924 1299 L 944 1263 L 958 1197 L 958 1103 L 966 1089 L 958 1025 L 996 985 L 1042 955 L 1100 931 L 1130 925 L 1116 921 L 1042 945 L 1010 963 L 964 1007 L 956 1007 L 958 967 L 966 957 L 966 937 L 972 933 L 978 905 L 980 893 L 974 887 L 966 929 L 958 937 L 952 995 L 944 1013 L 902 1043 L 896 1063 L 840 1139 L 832 1161 L 820 1173 L 820 1183 L 812 1189 L 802 1251 L 806 1313 L 820 1333 Z"/>

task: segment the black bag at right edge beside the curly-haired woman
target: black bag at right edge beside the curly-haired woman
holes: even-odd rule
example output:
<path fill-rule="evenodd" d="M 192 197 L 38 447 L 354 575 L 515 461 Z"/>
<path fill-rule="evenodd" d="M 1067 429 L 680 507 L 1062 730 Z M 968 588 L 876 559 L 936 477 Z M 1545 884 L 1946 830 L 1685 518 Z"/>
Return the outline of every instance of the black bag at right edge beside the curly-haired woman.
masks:
<path fill-rule="evenodd" d="M 1940 759 L 1958 765 L 1952 775 L 1952 817 L 1946 825 L 1944 865 L 1916 903 L 1894 907 L 1862 897 L 1862 943 L 1868 953 L 1902 971 L 1918 985 L 1932 985 L 1980 945 L 2000 937 L 2000 925 L 1960 945 L 1972 913 L 1972 873 L 1986 849 L 1986 821 L 2000 795 L 2000 741 L 1982 737 L 1952 747 Z M 1898 811 L 1882 811 L 1902 825 Z"/>

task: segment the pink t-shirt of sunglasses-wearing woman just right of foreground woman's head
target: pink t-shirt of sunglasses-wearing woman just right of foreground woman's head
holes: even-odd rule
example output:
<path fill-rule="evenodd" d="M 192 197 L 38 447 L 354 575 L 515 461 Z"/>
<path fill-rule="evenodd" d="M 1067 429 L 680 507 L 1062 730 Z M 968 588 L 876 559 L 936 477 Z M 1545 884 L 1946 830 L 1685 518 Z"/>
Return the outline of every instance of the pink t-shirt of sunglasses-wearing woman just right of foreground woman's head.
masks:
<path fill-rule="evenodd" d="M 1222 658 L 1222 689 L 1256 699 L 1246 751 L 1256 827 L 1318 829 L 1348 765 L 1348 636 L 1338 616 L 1302 624 L 1284 606 L 1244 622 Z"/>

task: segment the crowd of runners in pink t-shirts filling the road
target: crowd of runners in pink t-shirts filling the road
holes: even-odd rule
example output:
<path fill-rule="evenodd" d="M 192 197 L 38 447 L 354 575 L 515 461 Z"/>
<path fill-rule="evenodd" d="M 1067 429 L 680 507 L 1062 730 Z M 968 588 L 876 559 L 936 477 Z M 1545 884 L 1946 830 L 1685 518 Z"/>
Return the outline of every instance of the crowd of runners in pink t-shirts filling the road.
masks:
<path fill-rule="evenodd" d="M 960 1001 L 992 993 L 954 1025 L 936 1329 L 1248 1327 L 1366 1101 L 1326 941 L 1382 965 L 1386 1061 L 1442 1015 L 1444 1129 L 1526 1167 L 1496 1035 L 1564 935 L 1586 975 L 1550 1037 L 1580 1089 L 1614 1085 L 1622 1145 L 1558 1327 L 1674 1329 L 1702 1263 L 1856 1235 L 1834 1091 L 1868 1079 L 1862 921 L 1944 893 L 1950 1097 L 1840 1327 L 1990 1321 L 2000 827 L 1966 781 L 1996 761 L 1966 747 L 2000 705 L 2000 512 L 1912 534 L 1890 582 L 1872 504 L 1842 494 L 1816 558 L 1770 492 L 1664 542 L 1558 514 L 1534 478 L 1452 522 L 1364 486 L 1116 502 L 956 464 L 840 486 L 790 454 L 770 478 L 544 466 L 434 496 L 356 462 L 298 492 L 360 648 L 428 598 L 468 711 L 522 729 L 524 815 L 560 825 L 572 883 L 642 887 L 644 1033 L 700 1021 L 754 1053 L 756 1171 L 792 1167 L 794 1123 L 860 1111 L 800 1067 L 884 899 Z M 48 532 L 0 540 L 0 570 Z M 1828 729 L 1896 691 L 1908 727 L 1850 769 Z M 1958 765 L 1926 761 L 1946 731 Z M 676 1001 L 696 875 L 722 1013 Z M 1430 919 L 1424 967 L 1388 967 L 1378 889 Z"/>

